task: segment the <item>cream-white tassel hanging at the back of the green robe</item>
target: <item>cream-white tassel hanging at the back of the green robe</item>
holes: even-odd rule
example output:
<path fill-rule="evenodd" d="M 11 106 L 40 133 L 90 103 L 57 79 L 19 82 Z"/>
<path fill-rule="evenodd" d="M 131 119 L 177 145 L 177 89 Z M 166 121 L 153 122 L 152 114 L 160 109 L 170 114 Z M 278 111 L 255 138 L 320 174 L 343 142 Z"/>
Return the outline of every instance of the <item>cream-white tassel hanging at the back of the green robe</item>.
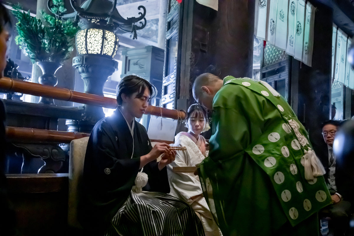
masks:
<path fill-rule="evenodd" d="M 305 150 L 304 152 L 305 179 L 313 180 L 315 177 L 324 175 L 326 173 L 325 168 L 316 156 L 315 152 L 311 148 Z"/>

